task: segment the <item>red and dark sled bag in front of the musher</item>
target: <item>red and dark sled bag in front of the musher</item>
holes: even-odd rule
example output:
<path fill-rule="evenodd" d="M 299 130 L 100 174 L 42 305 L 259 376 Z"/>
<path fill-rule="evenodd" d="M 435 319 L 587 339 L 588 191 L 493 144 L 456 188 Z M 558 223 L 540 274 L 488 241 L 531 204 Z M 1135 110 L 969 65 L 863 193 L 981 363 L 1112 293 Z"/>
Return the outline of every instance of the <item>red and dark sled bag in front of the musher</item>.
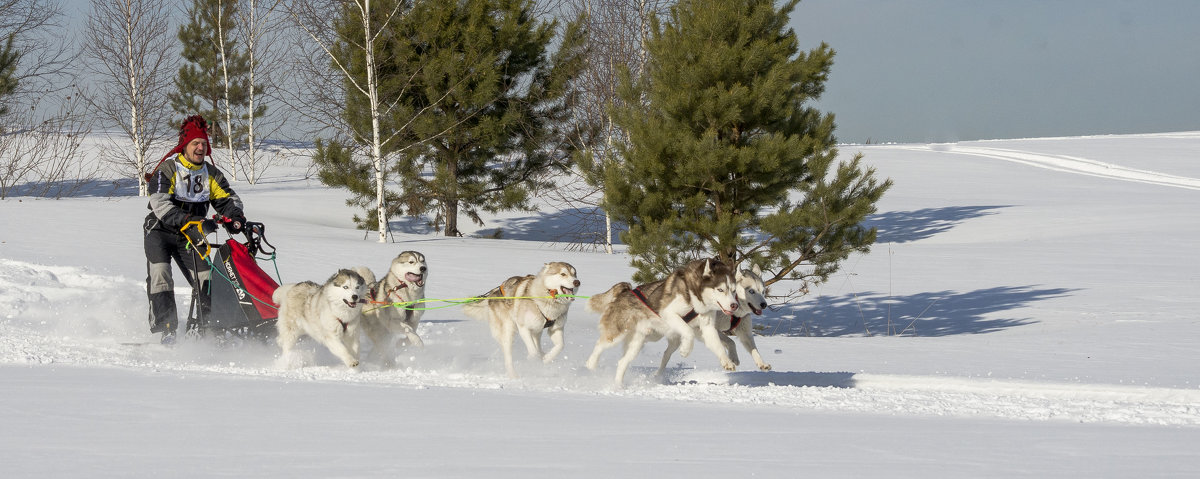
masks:
<path fill-rule="evenodd" d="M 209 328 L 236 336 L 274 336 L 278 309 L 271 294 L 280 287 L 258 267 L 246 245 L 226 240 L 212 252 L 212 307 Z"/>

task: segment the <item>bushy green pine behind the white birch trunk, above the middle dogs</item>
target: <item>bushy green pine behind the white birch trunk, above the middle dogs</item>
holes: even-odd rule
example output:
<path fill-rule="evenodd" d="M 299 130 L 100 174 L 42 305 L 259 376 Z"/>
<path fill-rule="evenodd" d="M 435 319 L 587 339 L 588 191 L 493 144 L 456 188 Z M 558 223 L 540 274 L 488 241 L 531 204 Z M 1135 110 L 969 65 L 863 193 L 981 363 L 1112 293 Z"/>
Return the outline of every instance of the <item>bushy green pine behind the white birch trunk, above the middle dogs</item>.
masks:
<path fill-rule="evenodd" d="M 528 208 L 530 188 L 547 186 L 540 178 L 566 167 L 570 82 L 582 68 L 583 35 L 578 22 L 570 23 L 559 48 L 548 52 L 558 25 L 534 19 L 532 5 L 424 0 L 391 17 L 374 54 L 379 95 L 390 104 L 380 119 L 388 138 L 383 154 L 395 155 L 389 173 L 403 192 L 386 193 L 396 198 L 388 202 L 389 216 L 432 212 L 434 227 L 458 235 L 460 214 L 481 223 L 480 211 Z M 342 25 L 361 29 L 361 23 Z M 364 54 L 344 48 L 336 55 L 343 66 L 364 70 Z M 359 125 L 358 144 L 366 139 L 358 133 L 366 130 L 366 108 L 361 95 L 347 96 L 343 120 Z M 336 167 L 332 160 L 318 162 Z M 331 185 L 374 194 L 355 191 L 356 181 Z"/>

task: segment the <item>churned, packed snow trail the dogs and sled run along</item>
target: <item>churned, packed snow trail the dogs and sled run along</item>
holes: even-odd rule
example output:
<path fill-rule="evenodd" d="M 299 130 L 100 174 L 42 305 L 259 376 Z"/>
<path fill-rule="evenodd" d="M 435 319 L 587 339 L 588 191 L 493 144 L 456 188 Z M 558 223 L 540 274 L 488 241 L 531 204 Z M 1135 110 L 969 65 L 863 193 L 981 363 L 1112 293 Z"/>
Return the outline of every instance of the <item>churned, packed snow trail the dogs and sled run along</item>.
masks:
<path fill-rule="evenodd" d="M 630 384 L 614 389 L 612 361 L 605 363 L 601 371 L 590 372 L 574 364 L 578 358 L 563 358 L 545 366 L 526 363 L 527 377 L 509 379 L 496 370 L 497 358 L 478 354 L 472 358 L 469 346 L 452 343 L 456 327 L 445 323 L 422 323 L 427 348 L 413 354 L 433 358 L 424 361 L 409 358 L 415 363 L 408 369 L 378 371 L 367 365 L 362 371 L 349 371 L 318 360 L 317 366 L 287 370 L 277 367 L 275 348 L 266 345 L 244 345 L 229 351 L 203 342 L 181 343 L 174 349 L 121 345 L 121 337 L 144 337 L 142 318 L 119 313 L 122 304 L 140 301 L 142 294 L 142 285 L 130 280 L 0 259 L 0 311 L 6 312 L 0 317 L 0 364 L 122 367 L 408 389 L 569 393 L 785 411 L 1200 426 L 1200 390 L 1190 389 L 744 370 L 670 370 L 666 383 L 658 383 L 649 378 L 653 371 L 649 367 L 632 369 Z M 97 298 L 103 298 L 103 304 L 79 304 Z M 487 347 L 494 349 L 493 343 Z M 463 351 L 468 351 L 466 359 L 461 358 Z M 445 358 L 438 358 L 439 354 Z M 697 354 L 703 353 L 697 349 Z"/>

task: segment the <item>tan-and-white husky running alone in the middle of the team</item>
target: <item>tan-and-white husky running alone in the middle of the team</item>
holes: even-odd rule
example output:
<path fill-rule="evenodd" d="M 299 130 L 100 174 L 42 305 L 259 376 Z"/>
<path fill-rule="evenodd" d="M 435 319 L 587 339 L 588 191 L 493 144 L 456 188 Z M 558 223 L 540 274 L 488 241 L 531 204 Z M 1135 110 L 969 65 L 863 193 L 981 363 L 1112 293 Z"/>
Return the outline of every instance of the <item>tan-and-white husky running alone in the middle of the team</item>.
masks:
<path fill-rule="evenodd" d="M 580 287 L 575 267 L 553 262 L 542 265 L 536 275 L 512 276 L 487 292 L 480 301 L 463 306 L 463 312 L 476 319 L 487 321 L 492 337 L 504 352 L 504 367 L 510 377 L 516 377 L 512 367 L 512 335 L 520 335 L 529 358 L 550 363 L 563 352 L 563 329 L 566 311 L 575 301 L 571 295 Z M 541 351 L 541 333 L 548 331 L 554 345 L 545 354 Z"/>

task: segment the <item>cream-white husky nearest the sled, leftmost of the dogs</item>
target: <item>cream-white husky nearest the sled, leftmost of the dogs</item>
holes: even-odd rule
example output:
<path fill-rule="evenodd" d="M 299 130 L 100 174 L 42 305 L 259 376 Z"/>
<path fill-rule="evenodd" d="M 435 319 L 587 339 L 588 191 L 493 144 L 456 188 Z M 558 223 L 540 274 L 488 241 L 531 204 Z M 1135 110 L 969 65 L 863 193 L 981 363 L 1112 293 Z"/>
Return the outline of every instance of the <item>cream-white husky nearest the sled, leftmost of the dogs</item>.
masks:
<path fill-rule="evenodd" d="M 338 270 L 324 285 L 312 281 L 280 286 L 271 299 L 280 306 L 275 321 L 280 359 L 288 361 L 300 336 L 308 335 L 348 367 L 359 365 L 359 327 L 366 281 L 358 273 Z"/>

